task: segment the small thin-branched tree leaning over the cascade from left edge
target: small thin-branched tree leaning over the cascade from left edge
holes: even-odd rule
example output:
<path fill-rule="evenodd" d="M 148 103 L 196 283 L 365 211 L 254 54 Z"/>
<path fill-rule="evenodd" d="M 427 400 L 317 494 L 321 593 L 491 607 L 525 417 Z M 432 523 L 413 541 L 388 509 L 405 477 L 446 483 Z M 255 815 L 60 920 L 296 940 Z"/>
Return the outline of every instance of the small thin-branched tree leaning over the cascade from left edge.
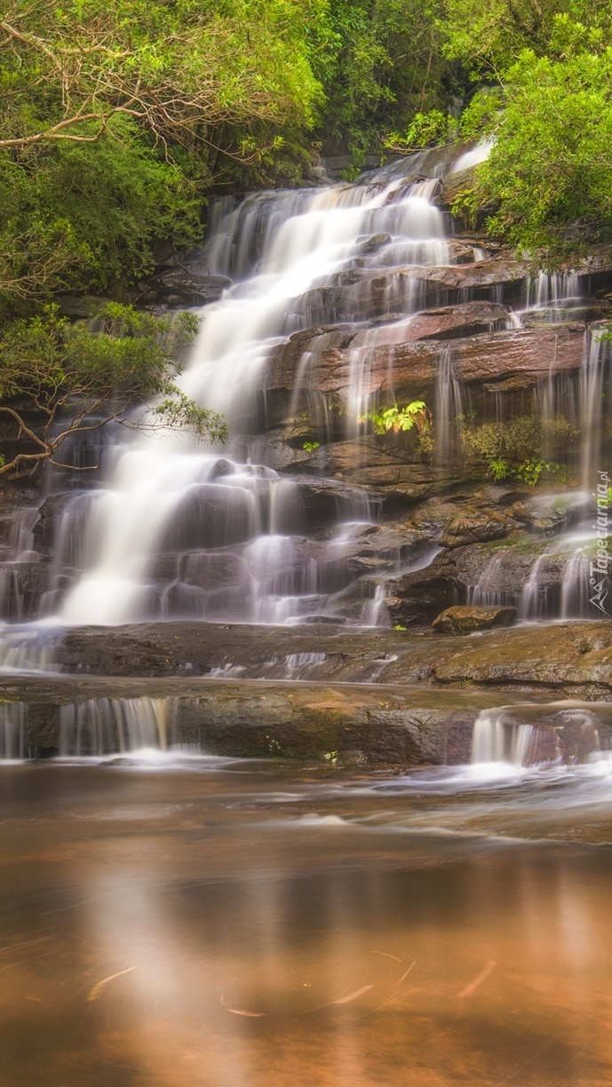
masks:
<path fill-rule="evenodd" d="M 14 423 L 14 436 L 23 440 L 0 474 L 33 474 L 45 461 L 73 467 L 59 460 L 66 439 L 111 421 L 225 440 L 223 416 L 200 408 L 176 384 L 177 359 L 198 327 L 193 314 L 160 318 L 108 303 L 97 325 L 71 325 L 48 307 L 42 316 L 12 322 L 0 335 L 0 416 Z M 150 399 L 153 407 L 137 410 Z"/>

